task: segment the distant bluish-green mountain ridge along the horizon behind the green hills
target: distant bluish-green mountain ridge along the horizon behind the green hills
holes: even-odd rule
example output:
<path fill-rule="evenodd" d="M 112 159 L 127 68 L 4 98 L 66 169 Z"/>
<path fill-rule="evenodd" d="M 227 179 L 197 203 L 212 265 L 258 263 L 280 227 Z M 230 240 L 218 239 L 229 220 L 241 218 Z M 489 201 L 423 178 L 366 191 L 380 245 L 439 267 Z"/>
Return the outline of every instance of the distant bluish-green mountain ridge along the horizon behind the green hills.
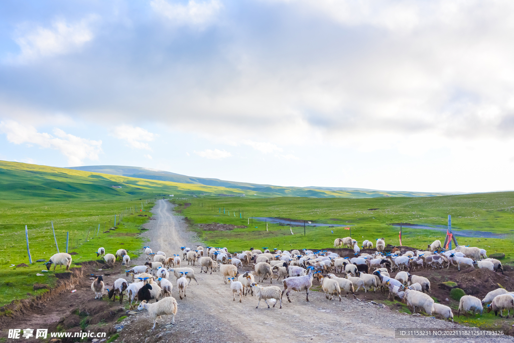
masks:
<path fill-rule="evenodd" d="M 427 193 L 409 191 L 381 191 L 365 188 L 348 187 L 283 187 L 274 185 L 260 185 L 244 182 L 220 180 L 217 178 L 192 177 L 168 171 L 150 168 L 129 166 L 81 166 L 68 167 L 67 169 L 82 170 L 95 173 L 136 177 L 150 180 L 177 182 L 182 184 L 197 184 L 252 190 L 256 192 L 274 193 L 282 196 L 307 196 L 307 197 L 378 197 L 378 196 L 439 196 L 454 193 Z"/>

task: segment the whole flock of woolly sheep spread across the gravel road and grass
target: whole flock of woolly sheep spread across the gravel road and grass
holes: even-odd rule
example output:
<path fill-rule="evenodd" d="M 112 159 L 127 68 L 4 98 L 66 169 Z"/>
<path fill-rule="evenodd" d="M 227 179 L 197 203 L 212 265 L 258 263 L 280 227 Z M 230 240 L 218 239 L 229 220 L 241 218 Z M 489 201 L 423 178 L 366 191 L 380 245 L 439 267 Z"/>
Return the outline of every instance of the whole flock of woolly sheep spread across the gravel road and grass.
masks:
<path fill-rule="evenodd" d="M 341 295 L 347 297 L 361 288 L 364 292 L 380 288 L 383 293 L 389 292 L 389 298 L 400 299 L 407 303 L 415 313 L 416 308 L 423 310 L 428 315 L 439 315 L 444 319 L 453 321 L 451 309 L 442 304 L 435 303 L 428 295 L 431 291 L 430 280 L 425 277 L 411 275 L 413 270 L 423 267 L 449 268 L 456 265 L 460 270 L 461 265 L 468 265 L 474 268 L 487 268 L 495 272 L 502 272 L 501 262 L 495 259 L 488 259 L 486 251 L 476 247 L 458 246 L 451 251 L 443 251 L 440 241 L 434 241 L 427 247 L 427 250 L 407 251 L 400 254 L 400 249 L 393 247 L 389 254 L 384 252 L 386 243 L 383 238 L 376 241 L 376 252 L 373 254 L 361 253 L 356 240 L 346 237 L 336 239 L 335 247 L 348 246 L 354 249 L 355 257 L 342 258 L 335 252 L 318 251 L 313 252 L 303 249 L 281 251 L 268 249 L 264 251 L 251 248 L 241 253 L 230 254 L 227 248 L 203 248 L 196 249 L 181 247 L 182 253 L 167 257 L 164 251 L 152 252 L 150 247 L 143 247 L 144 254 L 148 259 L 144 265 L 134 266 L 126 270 L 126 277 L 132 276 L 132 282 L 119 278 L 114 282 L 113 288 L 105 288 L 102 276 L 98 276 L 91 284 L 91 290 L 95 293 L 95 299 L 102 299 L 104 290 L 107 290 L 109 299 L 115 301 L 119 296 L 120 303 L 124 294 L 130 308 L 132 303 L 139 301 L 138 310 L 146 309 L 154 319 L 155 328 L 157 318 L 162 315 L 173 315 L 177 313 L 177 301 L 172 297 L 173 283 L 170 281 L 170 274 L 176 278 L 176 285 L 180 299 L 186 297 L 186 288 L 195 280 L 195 272 L 192 267 L 181 267 L 181 264 L 200 267 L 200 273 L 219 272 L 222 274 L 225 283 L 230 284 L 233 300 L 236 296 L 242 302 L 243 295 L 255 294 L 258 299 L 256 308 L 259 308 L 260 301 L 264 300 L 270 307 L 268 300 L 273 299 L 273 307 L 280 302 L 282 308 L 282 297 L 285 293 L 287 300 L 291 302 L 289 293 L 291 291 L 304 292 L 306 301 L 309 301 L 309 290 L 313 286 L 314 278 L 321 284 L 321 290 L 325 297 L 332 300 L 334 296 L 341 301 Z M 373 248 L 371 241 L 364 241 L 364 248 Z M 130 257 L 124 249 L 119 249 L 116 255 L 105 254 L 103 247 L 98 249 L 97 256 L 102 256 L 104 261 L 114 264 L 121 260 L 123 265 L 128 266 Z M 71 264 L 71 256 L 68 254 L 56 254 L 47 262 L 49 269 L 51 264 L 66 265 L 67 269 Z M 252 267 L 252 272 L 238 272 L 238 268 L 244 266 Z M 54 267 L 55 269 L 55 267 Z M 241 270 L 240 269 L 240 270 Z M 406 270 L 404 270 L 406 269 Z M 397 271 L 394 278 L 390 277 L 391 272 Z M 334 273 L 343 273 L 344 277 L 337 277 Z M 273 279 L 279 281 L 282 288 L 276 285 L 262 286 L 258 282 Z M 255 280 L 258 282 L 255 282 Z M 198 281 L 196 281 L 198 284 Z M 150 303 L 155 299 L 154 303 Z M 461 311 L 467 313 L 472 311 L 483 312 L 483 305 L 488 304 L 489 311 L 498 312 L 503 316 L 503 310 L 507 310 L 507 317 L 510 310 L 514 311 L 514 294 L 503 288 L 491 291 L 481 301 L 473 296 L 463 296 L 460 300 L 458 315 Z M 152 329 L 153 329 L 152 328 Z"/>

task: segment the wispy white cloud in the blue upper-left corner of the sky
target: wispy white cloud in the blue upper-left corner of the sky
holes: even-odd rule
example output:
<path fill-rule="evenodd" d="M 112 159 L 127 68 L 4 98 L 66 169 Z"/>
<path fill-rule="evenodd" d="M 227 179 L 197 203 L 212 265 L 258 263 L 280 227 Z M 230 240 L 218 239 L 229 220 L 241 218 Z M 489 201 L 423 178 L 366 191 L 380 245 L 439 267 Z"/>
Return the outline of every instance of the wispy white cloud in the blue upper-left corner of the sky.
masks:
<path fill-rule="evenodd" d="M 88 16 L 76 23 L 57 20 L 49 28 L 24 25 L 14 38 L 21 49 L 19 61 L 63 55 L 80 49 L 85 43 L 93 40 L 90 25 L 95 19 L 95 16 Z"/>

